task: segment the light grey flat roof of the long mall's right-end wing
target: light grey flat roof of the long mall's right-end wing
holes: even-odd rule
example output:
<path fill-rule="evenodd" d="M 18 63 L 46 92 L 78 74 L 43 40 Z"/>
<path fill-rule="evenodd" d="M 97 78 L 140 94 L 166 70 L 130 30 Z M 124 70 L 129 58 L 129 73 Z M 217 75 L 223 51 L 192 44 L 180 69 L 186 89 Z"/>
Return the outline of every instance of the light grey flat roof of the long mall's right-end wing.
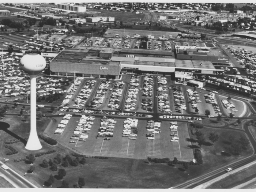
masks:
<path fill-rule="evenodd" d="M 211 61 L 203 60 L 175 60 L 176 68 L 216 70 Z"/>

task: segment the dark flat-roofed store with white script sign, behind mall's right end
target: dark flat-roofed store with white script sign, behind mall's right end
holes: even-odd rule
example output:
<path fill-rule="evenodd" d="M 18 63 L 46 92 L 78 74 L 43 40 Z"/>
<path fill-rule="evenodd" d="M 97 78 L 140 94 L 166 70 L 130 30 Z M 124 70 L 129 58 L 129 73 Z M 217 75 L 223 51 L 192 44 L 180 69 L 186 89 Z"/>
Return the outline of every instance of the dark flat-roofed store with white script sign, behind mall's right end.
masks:
<path fill-rule="evenodd" d="M 229 66 L 229 56 L 223 49 L 188 48 L 174 46 L 174 54 L 177 60 L 202 60 L 211 61 L 214 65 Z"/>

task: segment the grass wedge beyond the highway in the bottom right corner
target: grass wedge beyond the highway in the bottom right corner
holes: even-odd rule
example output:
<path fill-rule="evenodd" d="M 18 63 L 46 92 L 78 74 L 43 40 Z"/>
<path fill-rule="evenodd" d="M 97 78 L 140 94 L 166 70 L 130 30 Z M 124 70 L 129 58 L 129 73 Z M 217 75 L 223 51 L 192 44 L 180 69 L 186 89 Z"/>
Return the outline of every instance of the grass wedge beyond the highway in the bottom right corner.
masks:
<path fill-rule="evenodd" d="M 256 165 L 252 165 L 246 169 L 243 169 L 237 173 L 231 174 L 220 181 L 208 186 L 208 189 L 230 189 L 252 180 L 256 177 L 255 173 Z"/>

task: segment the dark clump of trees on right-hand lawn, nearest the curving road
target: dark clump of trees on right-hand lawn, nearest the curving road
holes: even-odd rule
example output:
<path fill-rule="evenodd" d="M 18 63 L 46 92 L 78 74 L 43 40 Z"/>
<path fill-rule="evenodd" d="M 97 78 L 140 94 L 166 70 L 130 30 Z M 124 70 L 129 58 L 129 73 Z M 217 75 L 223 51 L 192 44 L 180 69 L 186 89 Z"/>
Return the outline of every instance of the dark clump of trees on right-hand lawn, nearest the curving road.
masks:
<path fill-rule="evenodd" d="M 249 139 L 245 135 L 230 135 L 225 150 L 232 155 L 240 155 L 243 150 L 248 150 L 250 146 Z"/>

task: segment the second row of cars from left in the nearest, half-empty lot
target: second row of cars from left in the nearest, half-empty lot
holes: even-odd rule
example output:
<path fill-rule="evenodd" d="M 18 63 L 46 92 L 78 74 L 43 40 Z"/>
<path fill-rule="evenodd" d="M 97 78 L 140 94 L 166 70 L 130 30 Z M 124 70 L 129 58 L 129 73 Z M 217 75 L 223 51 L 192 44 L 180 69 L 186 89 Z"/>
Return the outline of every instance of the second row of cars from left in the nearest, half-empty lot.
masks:
<path fill-rule="evenodd" d="M 95 119 L 94 116 L 86 116 L 82 115 L 79 119 L 78 124 L 71 136 L 71 140 L 69 143 L 77 143 L 77 141 L 85 142 L 86 139 L 89 137 L 89 133 L 91 131 L 91 127 L 93 126 L 93 120 Z"/>

